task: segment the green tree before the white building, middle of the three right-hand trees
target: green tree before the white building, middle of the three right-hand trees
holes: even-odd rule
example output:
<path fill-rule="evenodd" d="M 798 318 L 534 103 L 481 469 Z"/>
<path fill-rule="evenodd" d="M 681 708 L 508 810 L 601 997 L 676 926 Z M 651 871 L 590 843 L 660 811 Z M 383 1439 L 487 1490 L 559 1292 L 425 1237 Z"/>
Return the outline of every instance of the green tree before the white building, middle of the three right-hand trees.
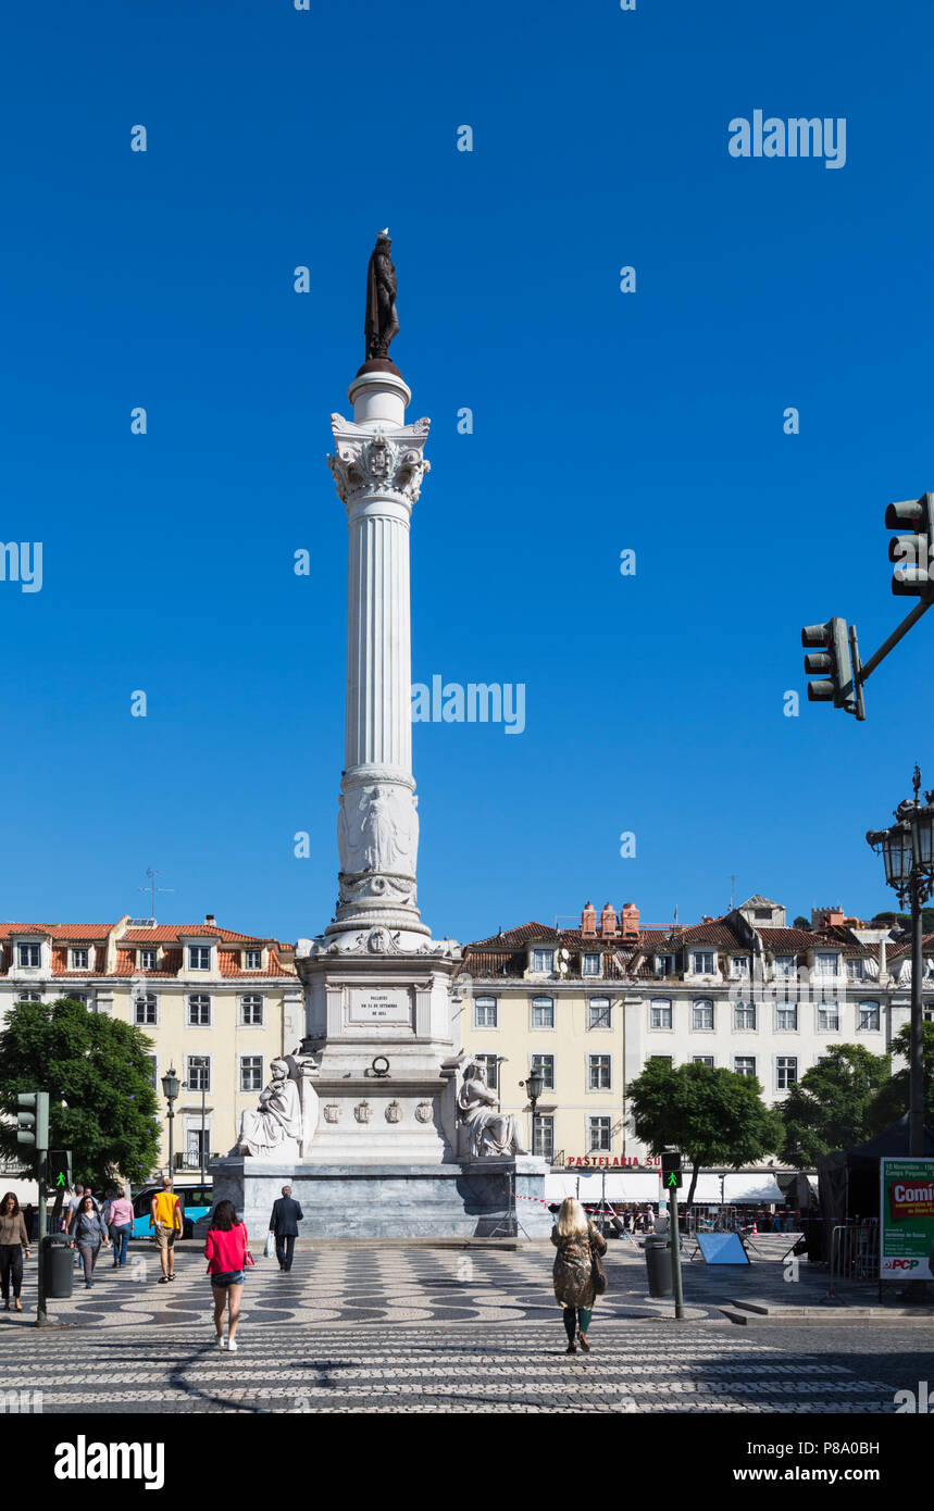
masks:
<path fill-rule="evenodd" d="M 813 1165 L 831 1148 L 852 1148 L 874 1133 L 874 1106 L 890 1076 L 887 1055 L 861 1044 L 834 1044 L 792 1086 L 783 1106 L 781 1157 Z"/>

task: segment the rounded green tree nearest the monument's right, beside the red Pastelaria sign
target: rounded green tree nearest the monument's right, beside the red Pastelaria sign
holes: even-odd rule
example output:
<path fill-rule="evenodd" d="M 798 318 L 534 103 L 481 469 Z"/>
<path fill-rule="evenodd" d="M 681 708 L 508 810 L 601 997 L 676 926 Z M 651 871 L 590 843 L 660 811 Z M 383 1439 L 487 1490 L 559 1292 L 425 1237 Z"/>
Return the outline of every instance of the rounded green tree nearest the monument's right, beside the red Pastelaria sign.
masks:
<path fill-rule="evenodd" d="M 754 1076 L 713 1065 L 670 1065 L 650 1059 L 626 1088 L 636 1138 L 653 1154 L 676 1144 L 691 1162 L 688 1206 L 701 1165 L 747 1165 L 775 1151 L 781 1117 L 762 1100 Z"/>

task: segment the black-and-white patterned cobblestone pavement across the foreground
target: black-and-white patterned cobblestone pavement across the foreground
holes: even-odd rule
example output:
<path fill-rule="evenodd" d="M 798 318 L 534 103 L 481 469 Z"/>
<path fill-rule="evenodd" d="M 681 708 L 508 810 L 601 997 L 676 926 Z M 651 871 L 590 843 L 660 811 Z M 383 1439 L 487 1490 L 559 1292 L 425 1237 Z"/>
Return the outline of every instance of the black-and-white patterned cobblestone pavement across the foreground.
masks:
<path fill-rule="evenodd" d="M 50 1302 L 62 1328 L 0 1313 L 0 1389 L 82 1414 L 860 1414 L 893 1411 L 893 1381 L 917 1378 L 902 1337 L 880 1336 L 858 1357 L 836 1328 L 756 1342 L 709 1306 L 676 1327 L 671 1302 L 645 1296 L 636 1256 L 614 1248 L 608 1266 L 594 1352 L 568 1357 L 544 1250 L 319 1250 L 296 1254 L 290 1275 L 260 1259 L 231 1355 L 213 1342 L 201 1256 L 181 1253 L 178 1278 L 160 1286 L 154 1257 L 138 1251 L 124 1271 L 104 1260 L 94 1290 Z M 35 1265 L 27 1277 L 29 1307 Z"/>

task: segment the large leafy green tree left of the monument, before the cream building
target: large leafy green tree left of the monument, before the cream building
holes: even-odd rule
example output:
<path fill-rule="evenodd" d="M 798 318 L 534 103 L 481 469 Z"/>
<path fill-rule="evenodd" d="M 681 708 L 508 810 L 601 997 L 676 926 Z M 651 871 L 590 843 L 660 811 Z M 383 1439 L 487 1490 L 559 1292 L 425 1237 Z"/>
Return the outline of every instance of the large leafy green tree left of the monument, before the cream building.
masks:
<path fill-rule="evenodd" d="M 48 1091 L 50 1142 L 73 1151 L 76 1180 L 142 1183 L 159 1157 L 150 1049 L 138 1027 L 83 1002 L 20 1002 L 0 1032 L 0 1109 L 15 1115 L 20 1091 Z M 0 1150 L 36 1174 L 15 1121 L 0 1123 Z"/>

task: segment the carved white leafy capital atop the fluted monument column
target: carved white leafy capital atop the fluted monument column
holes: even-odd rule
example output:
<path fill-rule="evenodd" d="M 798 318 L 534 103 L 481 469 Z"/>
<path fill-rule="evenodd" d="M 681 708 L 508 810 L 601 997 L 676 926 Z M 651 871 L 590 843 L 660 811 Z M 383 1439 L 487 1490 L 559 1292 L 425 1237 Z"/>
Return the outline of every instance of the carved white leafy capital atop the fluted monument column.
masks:
<path fill-rule="evenodd" d="M 410 508 L 422 490 L 422 477 L 431 471 L 423 456 L 429 420 L 370 429 L 331 416 L 334 456 L 328 467 L 343 503 L 360 499 L 397 497 Z"/>

